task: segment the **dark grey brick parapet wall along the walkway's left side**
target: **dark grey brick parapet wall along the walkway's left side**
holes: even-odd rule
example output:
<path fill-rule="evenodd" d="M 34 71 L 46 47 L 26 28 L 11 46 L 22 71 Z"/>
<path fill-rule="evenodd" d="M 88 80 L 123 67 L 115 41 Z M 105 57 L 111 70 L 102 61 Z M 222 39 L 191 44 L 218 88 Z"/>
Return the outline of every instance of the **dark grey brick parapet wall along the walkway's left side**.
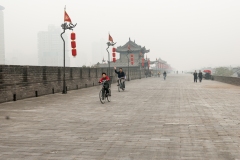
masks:
<path fill-rule="evenodd" d="M 127 68 L 123 68 L 127 74 Z M 66 67 L 67 90 L 98 85 L 107 68 Z M 111 69 L 112 83 L 117 76 Z M 131 80 L 139 79 L 139 68 L 130 68 Z M 141 71 L 144 78 L 144 71 Z M 63 67 L 0 65 L 0 103 L 62 92 Z"/>

